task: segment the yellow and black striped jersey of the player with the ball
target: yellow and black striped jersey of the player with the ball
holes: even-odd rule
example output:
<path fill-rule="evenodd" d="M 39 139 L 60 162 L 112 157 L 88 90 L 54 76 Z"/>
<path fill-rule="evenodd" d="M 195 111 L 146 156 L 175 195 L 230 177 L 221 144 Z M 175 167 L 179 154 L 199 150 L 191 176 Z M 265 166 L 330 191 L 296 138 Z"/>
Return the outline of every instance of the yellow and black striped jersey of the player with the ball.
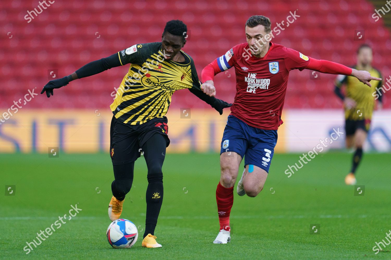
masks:
<path fill-rule="evenodd" d="M 192 57 L 182 50 L 181 54 L 184 62 L 166 61 L 161 42 L 136 44 L 118 52 L 121 65 L 131 65 L 110 105 L 114 116 L 126 124 L 143 124 L 167 113 L 176 90 L 201 90 Z"/>

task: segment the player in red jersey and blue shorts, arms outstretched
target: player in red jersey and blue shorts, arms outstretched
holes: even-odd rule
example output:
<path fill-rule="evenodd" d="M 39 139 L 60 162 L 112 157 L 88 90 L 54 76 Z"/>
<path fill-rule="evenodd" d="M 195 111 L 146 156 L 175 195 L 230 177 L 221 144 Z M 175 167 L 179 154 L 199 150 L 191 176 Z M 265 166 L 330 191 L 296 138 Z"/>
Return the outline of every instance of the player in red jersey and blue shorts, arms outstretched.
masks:
<path fill-rule="evenodd" d="M 265 16 L 251 16 L 245 32 L 247 43 L 231 48 L 202 71 L 204 92 L 214 86 L 214 75 L 231 67 L 235 67 L 236 74 L 235 101 L 221 141 L 221 178 L 216 190 L 220 232 L 214 244 L 226 244 L 231 240 L 233 186 L 243 157 L 245 169 L 237 193 L 255 197 L 264 187 L 277 142 L 277 129 L 282 124 L 282 108 L 291 70 L 351 75 L 368 86 L 371 86 L 371 80 L 381 80 L 371 77 L 367 71 L 317 60 L 272 43 L 271 22 Z"/>

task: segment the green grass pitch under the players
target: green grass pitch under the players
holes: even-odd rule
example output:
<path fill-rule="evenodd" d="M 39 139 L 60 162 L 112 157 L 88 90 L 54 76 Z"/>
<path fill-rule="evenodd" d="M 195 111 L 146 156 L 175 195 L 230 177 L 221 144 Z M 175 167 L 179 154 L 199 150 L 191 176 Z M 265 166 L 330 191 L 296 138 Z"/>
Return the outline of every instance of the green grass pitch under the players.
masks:
<path fill-rule="evenodd" d="M 155 232 L 163 247 L 157 249 L 141 246 L 147 171 L 140 158 L 121 216 L 140 225 L 140 237 L 131 249 L 113 249 L 106 239 L 113 181 L 108 154 L 2 154 L 0 183 L 16 188 L 14 195 L 0 195 L 0 258 L 390 259 L 391 245 L 377 255 L 372 251 L 391 229 L 390 154 L 364 154 L 357 172 L 363 196 L 344 184 L 351 157 L 320 154 L 287 178 L 284 171 L 299 154 L 275 154 L 257 197 L 235 192 L 231 242 L 215 245 L 219 155 L 167 154 Z M 26 255 L 26 242 L 76 203 L 82 211 Z M 312 224 L 320 224 L 319 234 L 310 234 Z"/>

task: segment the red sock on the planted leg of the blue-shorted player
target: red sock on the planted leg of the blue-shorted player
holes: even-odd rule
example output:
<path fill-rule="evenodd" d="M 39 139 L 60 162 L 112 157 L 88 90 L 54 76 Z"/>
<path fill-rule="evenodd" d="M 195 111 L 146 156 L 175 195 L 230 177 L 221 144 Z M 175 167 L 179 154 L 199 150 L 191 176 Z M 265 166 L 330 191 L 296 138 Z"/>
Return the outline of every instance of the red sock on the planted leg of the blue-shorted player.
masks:
<path fill-rule="evenodd" d="M 216 189 L 217 212 L 219 213 L 220 230 L 231 231 L 230 213 L 233 204 L 233 187 L 225 188 L 219 182 Z"/>

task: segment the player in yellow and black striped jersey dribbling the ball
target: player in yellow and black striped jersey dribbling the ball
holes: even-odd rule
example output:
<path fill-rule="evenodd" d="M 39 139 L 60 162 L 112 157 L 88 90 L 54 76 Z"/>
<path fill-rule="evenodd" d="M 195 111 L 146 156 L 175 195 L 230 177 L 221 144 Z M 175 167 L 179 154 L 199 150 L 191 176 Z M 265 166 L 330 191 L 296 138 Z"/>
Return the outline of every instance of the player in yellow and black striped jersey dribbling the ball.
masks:
<path fill-rule="evenodd" d="M 72 80 L 131 63 L 110 105 L 113 111 L 110 156 L 115 180 L 111 184 L 113 197 L 108 213 L 111 221 L 120 218 L 125 195 L 133 183 L 135 160 L 143 152 L 148 168 L 143 247 L 161 247 L 156 242 L 154 230 L 163 201 L 161 168 L 170 143 L 165 114 L 172 94 L 176 90 L 188 89 L 220 115 L 223 108 L 232 105 L 216 99 L 214 87 L 201 86 L 193 59 L 181 50 L 186 43 L 186 34 L 187 26 L 182 21 L 169 21 L 161 42 L 135 44 L 88 63 L 67 77 L 49 81 L 41 92 L 50 97 L 54 88 L 61 88 Z"/>

